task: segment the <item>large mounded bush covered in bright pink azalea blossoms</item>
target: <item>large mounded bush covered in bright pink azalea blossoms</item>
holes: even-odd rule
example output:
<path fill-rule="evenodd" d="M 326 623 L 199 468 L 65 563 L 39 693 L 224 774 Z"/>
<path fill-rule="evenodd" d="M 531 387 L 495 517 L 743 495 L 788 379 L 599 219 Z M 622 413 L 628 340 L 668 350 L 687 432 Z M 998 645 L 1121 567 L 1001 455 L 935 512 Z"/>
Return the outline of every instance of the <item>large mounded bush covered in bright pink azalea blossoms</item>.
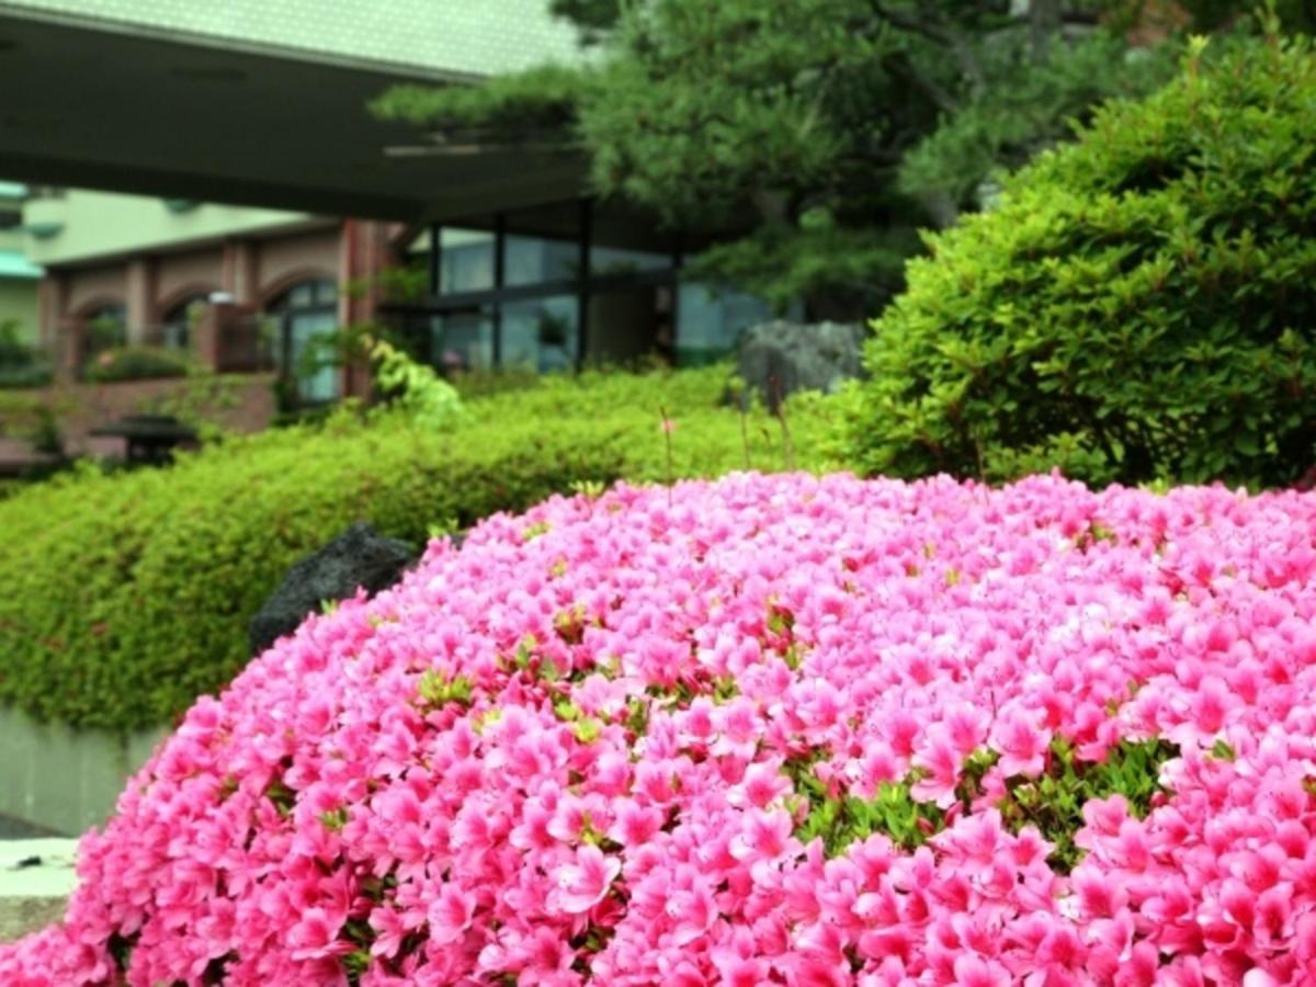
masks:
<path fill-rule="evenodd" d="M 201 699 L 5 987 L 1316 983 L 1316 495 L 621 487 Z"/>

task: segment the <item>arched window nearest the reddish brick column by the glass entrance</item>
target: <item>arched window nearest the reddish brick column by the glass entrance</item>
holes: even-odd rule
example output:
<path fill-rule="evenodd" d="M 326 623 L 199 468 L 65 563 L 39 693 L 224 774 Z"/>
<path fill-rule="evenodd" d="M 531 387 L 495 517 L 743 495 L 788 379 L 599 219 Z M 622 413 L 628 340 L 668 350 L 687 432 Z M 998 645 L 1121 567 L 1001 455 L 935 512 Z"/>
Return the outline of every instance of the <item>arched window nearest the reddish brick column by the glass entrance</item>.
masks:
<path fill-rule="evenodd" d="M 338 367 L 329 349 L 338 329 L 338 286 L 329 279 L 297 282 L 266 304 L 265 313 L 276 328 L 275 362 L 296 383 L 299 403 L 338 397 Z"/>

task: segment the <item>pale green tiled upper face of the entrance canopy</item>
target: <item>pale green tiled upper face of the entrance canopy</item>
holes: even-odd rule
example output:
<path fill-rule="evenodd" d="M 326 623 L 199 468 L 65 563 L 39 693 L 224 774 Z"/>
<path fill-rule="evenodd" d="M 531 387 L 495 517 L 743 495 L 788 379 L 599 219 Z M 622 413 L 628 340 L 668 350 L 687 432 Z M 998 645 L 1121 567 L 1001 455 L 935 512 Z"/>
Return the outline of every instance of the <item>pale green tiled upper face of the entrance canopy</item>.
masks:
<path fill-rule="evenodd" d="M 3 0 L 0 11 L 449 75 L 582 58 L 547 0 Z"/>

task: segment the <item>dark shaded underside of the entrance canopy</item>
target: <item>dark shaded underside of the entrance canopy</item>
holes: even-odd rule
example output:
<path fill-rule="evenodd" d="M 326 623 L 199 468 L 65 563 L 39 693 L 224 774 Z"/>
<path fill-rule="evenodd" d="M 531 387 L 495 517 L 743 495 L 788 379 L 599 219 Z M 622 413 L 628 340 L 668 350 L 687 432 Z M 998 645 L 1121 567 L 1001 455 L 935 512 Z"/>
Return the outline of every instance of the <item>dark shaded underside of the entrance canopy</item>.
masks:
<path fill-rule="evenodd" d="M 82 24 L 0 3 L 0 176 L 380 220 L 454 220 L 575 195 L 579 158 L 495 150 L 388 157 L 417 142 L 367 104 L 400 70 Z"/>

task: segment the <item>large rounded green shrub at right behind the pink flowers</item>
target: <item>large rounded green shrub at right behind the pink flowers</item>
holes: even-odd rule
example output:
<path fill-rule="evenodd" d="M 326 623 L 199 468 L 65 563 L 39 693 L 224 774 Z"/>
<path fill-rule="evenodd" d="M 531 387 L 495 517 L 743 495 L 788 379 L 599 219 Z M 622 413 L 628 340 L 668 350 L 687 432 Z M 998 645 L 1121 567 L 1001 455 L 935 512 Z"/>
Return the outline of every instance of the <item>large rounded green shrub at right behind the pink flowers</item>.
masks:
<path fill-rule="evenodd" d="M 929 237 L 874 322 L 866 472 L 1286 484 L 1316 462 L 1316 58 L 1194 50 Z"/>

